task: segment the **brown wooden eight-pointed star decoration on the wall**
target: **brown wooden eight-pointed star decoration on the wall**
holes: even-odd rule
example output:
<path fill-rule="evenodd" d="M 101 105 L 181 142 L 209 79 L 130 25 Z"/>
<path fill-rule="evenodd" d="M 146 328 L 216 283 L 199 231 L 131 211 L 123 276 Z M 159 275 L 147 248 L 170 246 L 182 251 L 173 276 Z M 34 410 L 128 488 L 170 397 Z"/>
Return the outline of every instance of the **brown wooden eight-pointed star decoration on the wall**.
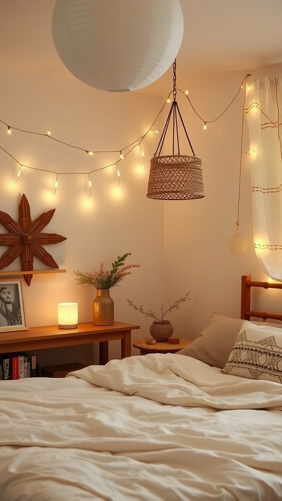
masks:
<path fill-rule="evenodd" d="M 9 214 L 0 210 L 0 223 L 10 231 L 10 233 L 0 233 L 0 245 L 10 247 L 0 259 L 0 270 L 11 265 L 19 256 L 21 256 L 23 272 L 33 270 L 34 256 L 51 268 L 59 268 L 43 245 L 59 243 L 66 240 L 67 237 L 57 233 L 42 233 L 43 228 L 51 221 L 55 210 L 43 212 L 32 221 L 30 204 L 25 194 L 23 194 L 19 205 L 19 222 L 14 221 Z M 24 279 L 30 286 L 32 275 L 24 275 Z"/>

